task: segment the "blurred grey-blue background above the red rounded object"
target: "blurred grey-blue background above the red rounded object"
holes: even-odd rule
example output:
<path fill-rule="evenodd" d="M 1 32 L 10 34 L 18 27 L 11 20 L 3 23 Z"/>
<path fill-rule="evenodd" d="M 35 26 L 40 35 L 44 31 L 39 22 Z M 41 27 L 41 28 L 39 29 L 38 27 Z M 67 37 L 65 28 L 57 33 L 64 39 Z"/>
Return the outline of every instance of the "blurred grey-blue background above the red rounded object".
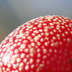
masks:
<path fill-rule="evenodd" d="M 0 0 L 0 42 L 19 25 L 45 15 L 72 18 L 72 0 Z"/>

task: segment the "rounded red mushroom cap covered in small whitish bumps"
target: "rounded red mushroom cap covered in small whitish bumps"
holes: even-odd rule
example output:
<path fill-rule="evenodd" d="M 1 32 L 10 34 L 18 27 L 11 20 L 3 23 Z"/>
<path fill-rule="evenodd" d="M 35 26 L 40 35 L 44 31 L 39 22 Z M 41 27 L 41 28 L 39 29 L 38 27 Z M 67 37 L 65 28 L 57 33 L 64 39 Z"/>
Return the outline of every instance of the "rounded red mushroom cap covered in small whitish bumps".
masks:
<path fill-rule="evenodd" d="M 0 72 L 72 72 L 72 20 L 32 19 L 0 45 Z"/>

